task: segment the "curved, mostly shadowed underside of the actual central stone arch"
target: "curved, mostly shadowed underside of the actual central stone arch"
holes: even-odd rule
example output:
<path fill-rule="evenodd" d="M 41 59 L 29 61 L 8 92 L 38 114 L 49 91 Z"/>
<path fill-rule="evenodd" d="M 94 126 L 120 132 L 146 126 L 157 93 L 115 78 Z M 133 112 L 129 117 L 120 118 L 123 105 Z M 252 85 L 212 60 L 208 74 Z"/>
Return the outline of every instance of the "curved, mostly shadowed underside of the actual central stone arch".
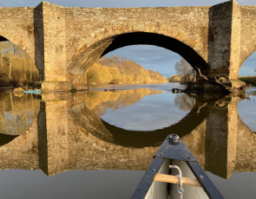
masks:
<path fill-rule="evenodd" d="M 83 75 L 102 55 L 106 55 L 116 48 L 138 44 L 155 45 L 172 50 L 187 60 L 192 67 L 200 67 L 204 74 L 209 69 L 207 62 L 198 53 L 202 50 L 202 47 L 196 39 L 186 34 L 176 33 L 170 36 L 158 32 L 132 32 L 108 36 L 102 40 L 97 40 L 88 48 L 86 48 L 86 45 L 83 46 L 78 50 L 81 53 L 77 53 L 69 62 L 68 71 L 71 74 Z M 83 50 L 84 48 L 85 50 Z"/>

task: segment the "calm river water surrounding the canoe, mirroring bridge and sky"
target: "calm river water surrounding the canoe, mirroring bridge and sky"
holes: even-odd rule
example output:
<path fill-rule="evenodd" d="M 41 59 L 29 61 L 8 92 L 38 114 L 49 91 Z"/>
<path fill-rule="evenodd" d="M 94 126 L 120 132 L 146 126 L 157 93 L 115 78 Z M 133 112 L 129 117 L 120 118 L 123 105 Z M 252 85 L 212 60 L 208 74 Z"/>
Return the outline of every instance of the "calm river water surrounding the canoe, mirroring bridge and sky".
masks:
<path fill-rule="evenodd" d="M 0 93 L 1 198 L 129 198 L 176 133 L 225 198 L 254 199 L 256 88 L 233 96 L 174 87 Z"/>

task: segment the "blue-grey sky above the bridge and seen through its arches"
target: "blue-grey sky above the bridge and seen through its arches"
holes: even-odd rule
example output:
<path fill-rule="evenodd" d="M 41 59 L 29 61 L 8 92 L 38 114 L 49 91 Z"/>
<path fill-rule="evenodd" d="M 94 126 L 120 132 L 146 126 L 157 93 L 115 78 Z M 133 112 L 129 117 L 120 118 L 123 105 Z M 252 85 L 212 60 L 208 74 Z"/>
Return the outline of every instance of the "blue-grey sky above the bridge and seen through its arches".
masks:
<path fill-rule="evenodd" d="M 4 7 L 36 7 L 42 0 L 0 0 Z M 212 6 L 223 3 L 223 0 L 47 0 L 49 3 L 64 7 L 100 7 L 100 8 L 130 8 L 130 7 L 174 7 L 174 6 Z M 256 5 L 256 0 L 237 0 L 240 5 Z M 164 76 L 175 74 L 174 64 L 181 59 L 165 48 L 137 45 L 116 49 L 108 54 L 121 55 L 133 60 L 145 68 L 159 71 Z M 253 53 L 240 69 L 240 76 L 254 75 L 256 69 L 256 52 Z"/>

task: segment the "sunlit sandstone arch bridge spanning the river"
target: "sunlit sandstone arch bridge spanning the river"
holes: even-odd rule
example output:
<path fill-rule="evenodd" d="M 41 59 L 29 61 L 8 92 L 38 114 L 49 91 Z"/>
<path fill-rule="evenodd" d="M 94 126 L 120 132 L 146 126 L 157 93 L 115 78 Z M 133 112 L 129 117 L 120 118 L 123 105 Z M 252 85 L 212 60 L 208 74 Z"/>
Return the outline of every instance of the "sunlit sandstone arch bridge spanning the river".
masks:
<path fill-rule="evenodd" d="M 238 80 L 256 49 L 256 6 L 228 1 L 167 8 L 0 8 L 0 41 L 10 40 L 35 61 L 43 89 L 85 86 L 102 55 L 147 44 L 181 55 L 203 74 Z M 72 84 L 73 83 L 73 84 Z"/>

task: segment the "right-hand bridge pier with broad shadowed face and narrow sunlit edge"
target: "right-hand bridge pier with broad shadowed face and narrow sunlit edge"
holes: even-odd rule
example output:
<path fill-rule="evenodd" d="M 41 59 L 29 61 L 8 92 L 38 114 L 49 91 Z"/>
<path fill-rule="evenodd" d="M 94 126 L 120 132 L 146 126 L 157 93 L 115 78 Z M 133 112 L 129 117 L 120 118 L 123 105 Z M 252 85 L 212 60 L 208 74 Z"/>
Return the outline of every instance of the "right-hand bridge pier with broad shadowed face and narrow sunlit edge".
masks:
<path fill-rule="evenodd" d="M 214 5 L 209 10 L 208 64 L 209 75 L 227 76 L 238 80 L 241 36 L 240 5 L 228 1 Z"/>

